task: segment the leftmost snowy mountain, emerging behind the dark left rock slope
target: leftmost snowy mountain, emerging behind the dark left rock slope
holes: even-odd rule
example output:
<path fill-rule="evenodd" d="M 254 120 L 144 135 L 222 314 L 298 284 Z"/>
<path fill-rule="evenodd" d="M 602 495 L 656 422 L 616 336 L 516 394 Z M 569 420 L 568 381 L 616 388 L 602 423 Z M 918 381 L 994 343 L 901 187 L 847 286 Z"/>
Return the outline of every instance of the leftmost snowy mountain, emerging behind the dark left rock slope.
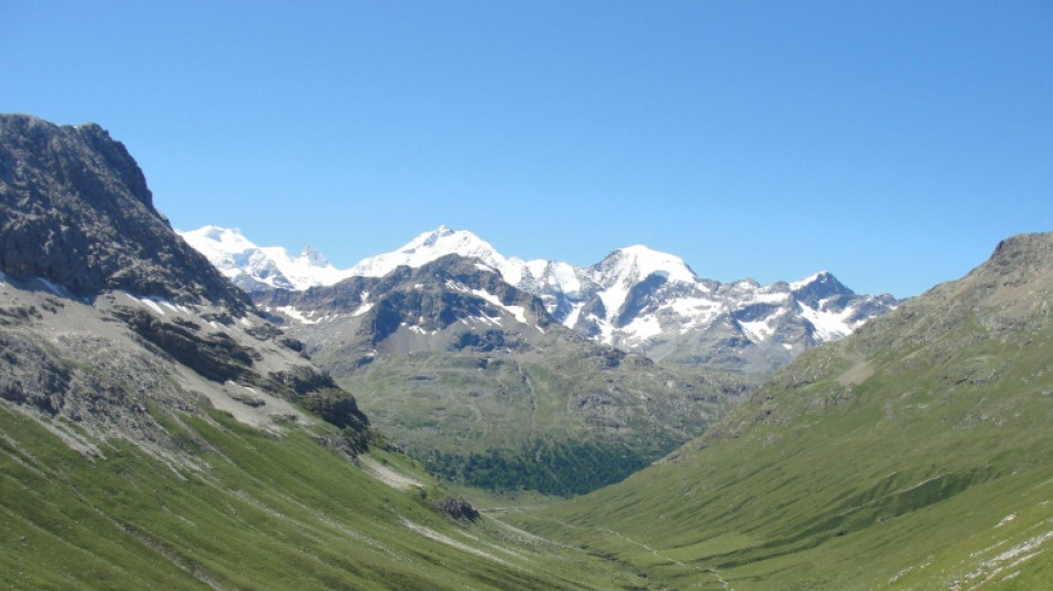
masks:
<path fill-rule="evenodd" d="M 310 246 L 294 257 L 282 246 L 257 246 L 236 228 L 205 226 L 178 234 L 246 292 L 307 289 L 333 285 L 352 275 L 333 266 Z"/>

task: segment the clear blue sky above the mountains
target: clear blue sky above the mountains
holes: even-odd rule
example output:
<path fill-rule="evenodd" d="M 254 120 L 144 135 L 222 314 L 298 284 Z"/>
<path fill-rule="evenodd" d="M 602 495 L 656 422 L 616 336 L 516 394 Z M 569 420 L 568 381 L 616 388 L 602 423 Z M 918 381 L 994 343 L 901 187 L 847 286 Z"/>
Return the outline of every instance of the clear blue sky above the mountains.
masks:
<path fill-rule="evenodd" d="M 902 297 L 1053 230 L 1049 0 L 0 0 L 0 112 L 339 266 L 446 224 Z"/>

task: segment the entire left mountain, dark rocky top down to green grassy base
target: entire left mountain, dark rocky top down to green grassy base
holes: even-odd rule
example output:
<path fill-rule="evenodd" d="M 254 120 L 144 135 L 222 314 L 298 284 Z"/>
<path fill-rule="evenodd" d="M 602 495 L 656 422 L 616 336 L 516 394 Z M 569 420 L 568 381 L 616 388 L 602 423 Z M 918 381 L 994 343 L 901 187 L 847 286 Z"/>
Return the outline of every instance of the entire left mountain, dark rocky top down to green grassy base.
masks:
<path fill-rule="evenodd" d="M 0 115 L 0 588 L 646 584 L 387 449 L 102 128 Z"/>

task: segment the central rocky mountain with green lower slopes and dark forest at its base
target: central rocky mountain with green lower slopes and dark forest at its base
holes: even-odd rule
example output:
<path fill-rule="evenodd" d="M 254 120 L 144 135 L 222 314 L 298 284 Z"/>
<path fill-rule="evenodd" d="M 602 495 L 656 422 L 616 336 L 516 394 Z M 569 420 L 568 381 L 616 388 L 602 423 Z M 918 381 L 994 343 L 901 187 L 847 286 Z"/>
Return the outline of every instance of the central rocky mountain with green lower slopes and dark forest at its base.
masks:
<path fill-rule="evenodd" d="M 436 472 L 495 489 L 617 480 L 704 432 L 750 387 L 595 343 L 456 254 L 256 302 L 388 438 Z"/>

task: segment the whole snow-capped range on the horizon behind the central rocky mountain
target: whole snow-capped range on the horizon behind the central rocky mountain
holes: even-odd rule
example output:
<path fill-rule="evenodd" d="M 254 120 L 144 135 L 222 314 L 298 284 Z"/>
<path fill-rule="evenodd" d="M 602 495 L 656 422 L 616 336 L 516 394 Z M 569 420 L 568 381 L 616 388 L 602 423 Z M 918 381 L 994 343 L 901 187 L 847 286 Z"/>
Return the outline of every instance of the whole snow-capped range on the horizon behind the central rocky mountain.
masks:
<path fill-rule="evenodd" d="M 698 277 L 679 257 L 643 245 L 618 248 L 579 267 L 556 261 L 505 258 L 468 231 L 447 226 L 420 234 L 398 251 L 337 269 L 320 255 L 292 258 L 260 248 L 239 232 L 207 226 L 184 234 L 238 285 L 305 289 L 346 277 L 382 277 L 447 255 L 473 258 L 541 299 L 556 320 L 594 340 L 657 360 L 767 373 L 807 348 L 847 336 L 893 309 L 889 295 L 857 295 L 821 272 L 760 285 Z"/>

